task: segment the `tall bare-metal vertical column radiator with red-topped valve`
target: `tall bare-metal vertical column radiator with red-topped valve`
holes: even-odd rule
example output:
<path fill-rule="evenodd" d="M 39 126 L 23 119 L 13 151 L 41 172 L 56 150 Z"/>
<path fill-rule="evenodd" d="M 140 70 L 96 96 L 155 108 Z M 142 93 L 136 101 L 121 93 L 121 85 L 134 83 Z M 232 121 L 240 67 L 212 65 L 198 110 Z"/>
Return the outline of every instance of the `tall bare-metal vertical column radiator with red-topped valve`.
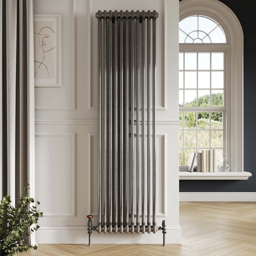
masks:
<path fill-rule="evenodd" d="M 158 13 L 98 11 L 96 18 L 98 225 L 92 227 L 92 215 L 87 216 L 89 245 L 92 230 L 166 233 L 165 221 L 156 225 Z"/>

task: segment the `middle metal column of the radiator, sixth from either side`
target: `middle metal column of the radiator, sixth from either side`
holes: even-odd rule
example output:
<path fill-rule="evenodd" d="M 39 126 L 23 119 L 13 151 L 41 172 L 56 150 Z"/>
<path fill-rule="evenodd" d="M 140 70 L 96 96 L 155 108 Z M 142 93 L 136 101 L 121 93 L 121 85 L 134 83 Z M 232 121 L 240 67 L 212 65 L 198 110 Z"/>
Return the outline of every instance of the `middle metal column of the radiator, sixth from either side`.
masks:
<path fill-rule="evenodd" d="M 129 12 L 125 12 L 125 233 L 129 232 Z"/>

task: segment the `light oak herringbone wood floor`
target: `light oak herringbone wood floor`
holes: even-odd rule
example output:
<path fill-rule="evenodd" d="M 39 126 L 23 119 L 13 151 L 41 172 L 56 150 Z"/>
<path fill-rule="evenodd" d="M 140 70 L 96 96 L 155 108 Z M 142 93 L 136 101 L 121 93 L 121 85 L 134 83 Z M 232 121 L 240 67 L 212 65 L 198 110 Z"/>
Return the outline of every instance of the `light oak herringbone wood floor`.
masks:
<path fill-rule="evenodd" d="M 256 202 L 180 202 L 182 244 L 40 244 L 26 256 L 256 256 Z M 21 254 L 20 254 L 21 255 Z"/>

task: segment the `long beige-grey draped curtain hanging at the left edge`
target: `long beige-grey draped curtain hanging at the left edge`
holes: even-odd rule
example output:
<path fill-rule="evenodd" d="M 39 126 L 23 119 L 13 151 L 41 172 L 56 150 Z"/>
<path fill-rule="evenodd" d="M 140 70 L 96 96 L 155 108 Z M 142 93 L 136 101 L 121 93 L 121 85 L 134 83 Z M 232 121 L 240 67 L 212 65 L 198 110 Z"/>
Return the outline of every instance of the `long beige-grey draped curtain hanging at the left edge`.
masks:
<path fill-rule="evenodd" d="M 13 206 L 26 183 L 35 196 L 33 45 L 33 0 L 0 0 L 0 197 Z"/>

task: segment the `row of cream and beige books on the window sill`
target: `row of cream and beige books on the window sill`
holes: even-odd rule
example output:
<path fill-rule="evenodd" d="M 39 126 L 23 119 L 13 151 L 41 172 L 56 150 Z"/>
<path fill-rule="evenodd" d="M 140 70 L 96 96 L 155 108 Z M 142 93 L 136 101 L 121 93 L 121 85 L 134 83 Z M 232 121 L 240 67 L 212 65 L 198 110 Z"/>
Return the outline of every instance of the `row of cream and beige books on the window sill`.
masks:
<path fill-rule="evenodd" d="M 202 150 L 192 153 L 188 171 L 217 172 L 217 149 Z"/>

